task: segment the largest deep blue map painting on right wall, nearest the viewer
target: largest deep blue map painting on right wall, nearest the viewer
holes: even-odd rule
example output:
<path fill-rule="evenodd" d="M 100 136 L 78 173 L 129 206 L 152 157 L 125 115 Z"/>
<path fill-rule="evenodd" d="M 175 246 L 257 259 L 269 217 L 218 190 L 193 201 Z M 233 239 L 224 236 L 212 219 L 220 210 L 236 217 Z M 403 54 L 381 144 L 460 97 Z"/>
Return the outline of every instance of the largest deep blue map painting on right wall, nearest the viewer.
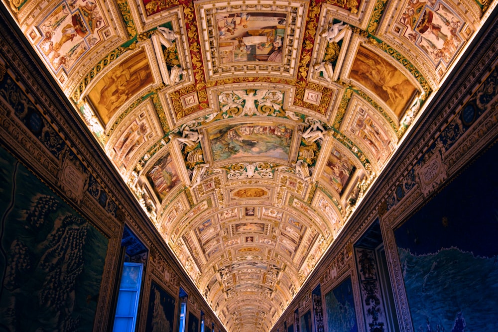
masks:
<path fill-rule="evenodd" d="M 414 331 L 498 331 L 498 144 L 394 231 Z"/>

